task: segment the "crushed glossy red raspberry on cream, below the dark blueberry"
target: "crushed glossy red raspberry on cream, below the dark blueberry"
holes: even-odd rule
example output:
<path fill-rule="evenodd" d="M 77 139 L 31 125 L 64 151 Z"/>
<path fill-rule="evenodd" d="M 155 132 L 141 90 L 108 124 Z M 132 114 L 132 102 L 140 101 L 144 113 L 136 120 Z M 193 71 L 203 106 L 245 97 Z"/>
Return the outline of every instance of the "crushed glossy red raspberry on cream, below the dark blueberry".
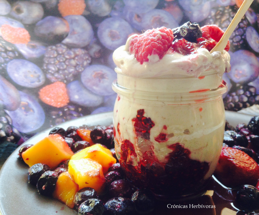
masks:
<path fill-rule="evenodd" d="M 178 52 L 182 55 L 188 55 L 195 53 L 197 46 L 195 43 L 191 43 L 184 38 L 175 40 L 172 44 L 172 47 L 169 49 L 169 52 Z"/>

